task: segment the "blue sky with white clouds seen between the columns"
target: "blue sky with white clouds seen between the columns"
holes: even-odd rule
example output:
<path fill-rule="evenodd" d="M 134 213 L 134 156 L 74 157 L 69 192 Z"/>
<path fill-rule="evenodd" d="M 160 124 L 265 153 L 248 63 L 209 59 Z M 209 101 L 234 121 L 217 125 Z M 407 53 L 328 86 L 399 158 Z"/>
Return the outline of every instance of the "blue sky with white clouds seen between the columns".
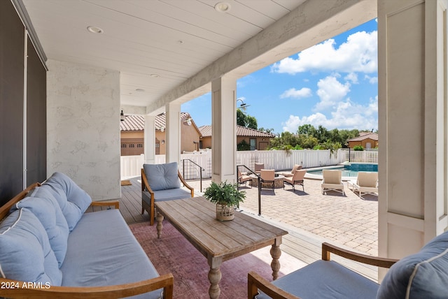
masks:
<path fill-rule="evenodd" d="M 378 129 L 377 20 L 237 80 L 237 98 L 258 127 L 295 133 L 302 124 Z M 238 101 L 237 105 L 240 102 Z M 211 94 L 181 106 L 211 124 Z"/>

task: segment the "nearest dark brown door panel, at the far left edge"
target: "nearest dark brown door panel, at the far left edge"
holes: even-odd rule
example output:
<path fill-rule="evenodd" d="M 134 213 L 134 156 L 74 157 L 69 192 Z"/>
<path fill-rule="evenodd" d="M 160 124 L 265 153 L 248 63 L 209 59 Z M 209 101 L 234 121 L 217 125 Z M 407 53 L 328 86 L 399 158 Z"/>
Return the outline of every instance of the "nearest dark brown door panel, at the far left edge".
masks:
<path fill-rule="evenodd" d="M 24 31 L 11 1 L 0 1 L 0 205 L 23 189 Z"/>

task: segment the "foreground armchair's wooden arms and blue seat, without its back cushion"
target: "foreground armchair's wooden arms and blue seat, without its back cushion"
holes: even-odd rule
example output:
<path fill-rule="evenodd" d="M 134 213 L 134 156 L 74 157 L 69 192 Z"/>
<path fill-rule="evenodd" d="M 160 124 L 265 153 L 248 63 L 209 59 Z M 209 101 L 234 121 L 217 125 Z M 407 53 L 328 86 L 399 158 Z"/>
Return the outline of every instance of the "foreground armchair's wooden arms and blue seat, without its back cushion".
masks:
<path fill-rule="evenodd" d="M 382 268 L 391 268 L 397 262 L 391 258 L 358 254 L 324 242 L 321 260 L 276 279 L 274 282 L 269 282 L 256 272 L 248 272 L 247 298 L 375 298 L 377 296 L 379 284 L 340 263 L 331 261 L 331 253 Z"/>

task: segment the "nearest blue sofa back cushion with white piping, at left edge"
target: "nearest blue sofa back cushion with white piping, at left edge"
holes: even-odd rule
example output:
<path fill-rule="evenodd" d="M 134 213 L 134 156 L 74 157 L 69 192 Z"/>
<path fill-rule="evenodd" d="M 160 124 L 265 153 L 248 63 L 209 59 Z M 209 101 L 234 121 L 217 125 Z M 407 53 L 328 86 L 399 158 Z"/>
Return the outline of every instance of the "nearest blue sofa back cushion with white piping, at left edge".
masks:
<path fill-rule="evenodd" d="M 60 286 L 62 272 L 41 221 L 23 208 L 0 224 L 0 273 L 3 278 Z"/>

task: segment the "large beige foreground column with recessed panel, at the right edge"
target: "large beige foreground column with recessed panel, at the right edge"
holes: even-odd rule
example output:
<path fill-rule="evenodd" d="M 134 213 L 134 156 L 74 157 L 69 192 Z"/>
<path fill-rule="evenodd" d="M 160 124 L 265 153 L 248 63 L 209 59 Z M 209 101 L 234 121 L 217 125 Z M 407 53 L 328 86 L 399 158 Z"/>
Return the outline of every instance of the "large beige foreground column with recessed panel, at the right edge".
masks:
<path fill-rule="evenodd" d="M 378 0 L 380 256 L 448 227 L 447 6 Z"/>

